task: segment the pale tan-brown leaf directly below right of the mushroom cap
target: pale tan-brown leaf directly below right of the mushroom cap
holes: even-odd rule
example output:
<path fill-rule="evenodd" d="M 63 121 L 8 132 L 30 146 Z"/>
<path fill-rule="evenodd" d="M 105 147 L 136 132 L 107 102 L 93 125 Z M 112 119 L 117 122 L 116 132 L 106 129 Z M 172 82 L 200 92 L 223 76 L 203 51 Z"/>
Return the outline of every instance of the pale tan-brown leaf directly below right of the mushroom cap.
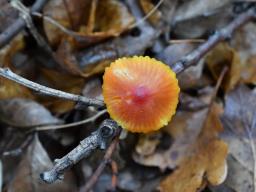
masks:
<path fill-rule="evenodd" d="M 205 90 L 205 92 L 206 93 L 197 95 L 197 100 L 200 98 L 201 102 L 204 102 L 208 108 L 213 90 Z M 167 168 L 173 169 L 179 166 L 184 158 L 193 151 L 191 146 L 193 146 L 193 144 L 198 140 L 203 122 L 207 115 L 207 108 L 204 107 L 193 112 L 177 111 L 172 121 L 163 128 L 163 131 L 171 137 L 169 139 L 171 140 L 170 146 L 165 149 L 161 149 L 158 146 L 155 146 L 156 142 L 153 142 L 151 149 L 158 147 L 158 150 L 147 155 L 136 152 L 133 154 L 133 159 L 139 164 L 145 166 L 157 166 L 161 170 L 166 170 Z M 143 137 L 143 143 L 151 143 L 149 138 L 150 137 Z M 163 141 L 162 138 L 159 140 L 161 142 Z M 138 144 L 136 148 L 137 147 Z M 139 147 L 141 148 L 143 145 Z"/>

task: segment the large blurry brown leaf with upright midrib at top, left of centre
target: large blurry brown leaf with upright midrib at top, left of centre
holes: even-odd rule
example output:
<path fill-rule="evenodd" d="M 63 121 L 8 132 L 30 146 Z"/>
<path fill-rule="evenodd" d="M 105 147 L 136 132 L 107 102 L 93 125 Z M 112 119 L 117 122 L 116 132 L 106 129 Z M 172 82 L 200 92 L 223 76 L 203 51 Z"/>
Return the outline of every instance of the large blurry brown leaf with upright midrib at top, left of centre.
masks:
<path fill-rule="evenodd" d="M 69 38 L 77 47 L 88 46 L 103 39 L 118 36 L 134 22 L 126 6 L 117 0 L 76 0 L 75 2 L 68 0 L 66 5 L 62 0 L 50 1 L 44 13 L 74 31 Z M 72 22 L 76 23 L 76 27 L 72 28 Z M 59 44 L 61 39 L 67 36 L 47 21 L 44 22 L 44 29 L 52 45 Z"/>

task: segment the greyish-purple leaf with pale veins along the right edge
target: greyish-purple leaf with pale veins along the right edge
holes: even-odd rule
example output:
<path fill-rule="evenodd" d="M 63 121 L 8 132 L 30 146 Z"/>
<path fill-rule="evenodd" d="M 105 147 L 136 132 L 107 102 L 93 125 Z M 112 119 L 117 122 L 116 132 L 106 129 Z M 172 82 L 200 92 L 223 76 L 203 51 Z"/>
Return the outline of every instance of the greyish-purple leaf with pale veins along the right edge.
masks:
<path fill-rule="evenodd" d="M 225 98 L 223 139 L 229 145 L 229 171 L 224 185 L 235 191 L 255 190 L 256 94 L 240 85 Z M 253 182 L 254 180 L 254 182 Z"/>

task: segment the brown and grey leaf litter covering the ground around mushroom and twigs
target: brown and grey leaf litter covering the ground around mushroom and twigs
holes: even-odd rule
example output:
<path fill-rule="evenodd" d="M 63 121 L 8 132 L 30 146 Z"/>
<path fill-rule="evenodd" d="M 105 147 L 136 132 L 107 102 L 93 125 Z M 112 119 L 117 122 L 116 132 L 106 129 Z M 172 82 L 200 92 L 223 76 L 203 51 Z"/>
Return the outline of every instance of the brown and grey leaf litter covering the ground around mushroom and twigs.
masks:
<path fill-rule="evenodd" d="M 23 3 L 31 5 L 31 1 Z M 251 6 L 231 0 L 136 3 L 140 9 L 134 8 L 135 1 L 126 0 L 48 1 L 33 21 L 52 53 L 45 53 L 23 30 L 0 49 L 0 66 L 48 87 L 102 100 L 102 73 L 113 60 L 148 55 L 173 64 L 196 49 L 201 43 L 197 40 L 207 40 L 230 23 L 235 8 Z M 8 1 L 0 0 L 0 32 L 17 17 Z M 120 141 L 113 157 L 119 166 L 117 191 L 255 191 L 255 32 L 255 23 L 246 24 L 178 75 L 180 104 L 166 127 L 150 134 L 128 133 Z M 216 92 L 214 86 L 225 67 L 228 71 Z M 100 112 L 39 95 L 1 77 L 3 191 L 82 189 L 96 162 L 101 162 L 102 152 L 76 165 L 64 182 L 46 185 L 39 173 L 96 130 L 108 117 L 97 116 Z M 35 136 L 27 132 L 83 121 L 86 124 L 47 129 Z M 27 137 L 32 141 L 26 143 Z M 16 155 L 4 156 L 16 149 Z M 111 179 L 111 170 L 106 169 L 94 191 L 106 191 Z"/>

